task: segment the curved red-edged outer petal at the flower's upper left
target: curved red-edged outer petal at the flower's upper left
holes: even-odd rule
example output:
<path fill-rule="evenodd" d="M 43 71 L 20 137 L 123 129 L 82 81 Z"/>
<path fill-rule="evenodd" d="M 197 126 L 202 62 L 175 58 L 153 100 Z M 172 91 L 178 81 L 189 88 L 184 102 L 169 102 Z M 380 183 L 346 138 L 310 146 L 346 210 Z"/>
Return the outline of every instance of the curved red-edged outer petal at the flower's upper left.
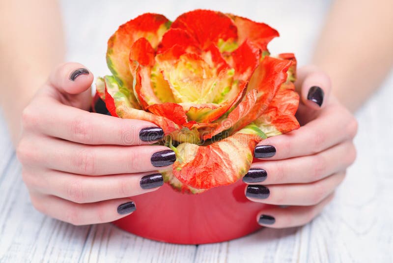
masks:
<path fill-rule="evenodd" d="M 146 13 L 121 25 L 108 40 L 107 64 L 119 85 L 132 90 L 133 78 L 128 66 L 128 55 L 132 44 L 140 37 L 149 39 L 156 48 L 170 21 L 163 15 Z M 139 107 L 131 94 L 134 107 Z"/>

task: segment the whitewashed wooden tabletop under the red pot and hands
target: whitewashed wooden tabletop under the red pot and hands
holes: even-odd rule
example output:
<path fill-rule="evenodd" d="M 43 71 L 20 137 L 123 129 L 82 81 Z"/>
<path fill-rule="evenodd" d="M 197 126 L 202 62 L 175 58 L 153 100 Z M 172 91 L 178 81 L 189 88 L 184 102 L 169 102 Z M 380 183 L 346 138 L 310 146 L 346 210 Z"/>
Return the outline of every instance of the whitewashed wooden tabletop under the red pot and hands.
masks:
<path fill-rule="evenodd" d="M 111 224 L 75 227 L 35 211 L 1 119 L 0 262 L 393 262 L 393 74 L 383 86 L 357 114 L 357 161 L 319 217 L 199 246 Z"/>

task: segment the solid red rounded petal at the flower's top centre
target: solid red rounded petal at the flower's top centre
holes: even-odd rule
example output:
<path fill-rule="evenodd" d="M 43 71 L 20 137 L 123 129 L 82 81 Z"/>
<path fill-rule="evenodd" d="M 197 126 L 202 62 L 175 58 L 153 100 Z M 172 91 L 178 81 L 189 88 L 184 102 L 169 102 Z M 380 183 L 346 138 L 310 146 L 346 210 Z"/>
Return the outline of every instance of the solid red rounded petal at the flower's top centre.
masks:
<path fill-rule="evenodd" d="M 194 10 L 176 18 L 171 28 L 183 29 L 194 36 L 205 49 L 210 44 L 218 44 L 219 40 L 236 40 L 237 29 L 233 21 L 221 12 L 210 10 Z"/>

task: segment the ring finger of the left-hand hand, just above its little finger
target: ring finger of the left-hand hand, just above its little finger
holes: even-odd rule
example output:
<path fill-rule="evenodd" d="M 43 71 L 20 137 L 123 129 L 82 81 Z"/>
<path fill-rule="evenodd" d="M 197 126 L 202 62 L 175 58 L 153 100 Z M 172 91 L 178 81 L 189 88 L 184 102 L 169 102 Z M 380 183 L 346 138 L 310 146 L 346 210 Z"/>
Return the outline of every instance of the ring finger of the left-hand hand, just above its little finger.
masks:
<path fill-rule="evenodd" d="M 164 184 L 163 176 L 157 171 L 99 178 L 53 170 L 42 171 L 40 175 L 24 171 L 23 179 L 29 189 L 79 204 L 136 196 L 155 191 Z"/>

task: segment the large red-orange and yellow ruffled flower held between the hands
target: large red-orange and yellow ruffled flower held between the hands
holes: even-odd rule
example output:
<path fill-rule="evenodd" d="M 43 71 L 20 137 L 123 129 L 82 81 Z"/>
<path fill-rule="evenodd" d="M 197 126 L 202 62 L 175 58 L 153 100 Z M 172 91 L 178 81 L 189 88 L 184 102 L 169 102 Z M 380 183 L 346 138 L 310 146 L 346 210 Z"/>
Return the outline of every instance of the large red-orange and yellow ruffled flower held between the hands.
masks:
<path fill-rule="evenodd" d="M 161 171 L 174 188 L 199 193 L 247 173 L 253 148 L 299 128 L 293 54 L 271 57 L 277 30 L 247 18 L 194 10 L 173 23 L 146 13 L 108 41 L 112 76 L 97 94 L 112 116 L 151 121 L 176 152 Z"/>

